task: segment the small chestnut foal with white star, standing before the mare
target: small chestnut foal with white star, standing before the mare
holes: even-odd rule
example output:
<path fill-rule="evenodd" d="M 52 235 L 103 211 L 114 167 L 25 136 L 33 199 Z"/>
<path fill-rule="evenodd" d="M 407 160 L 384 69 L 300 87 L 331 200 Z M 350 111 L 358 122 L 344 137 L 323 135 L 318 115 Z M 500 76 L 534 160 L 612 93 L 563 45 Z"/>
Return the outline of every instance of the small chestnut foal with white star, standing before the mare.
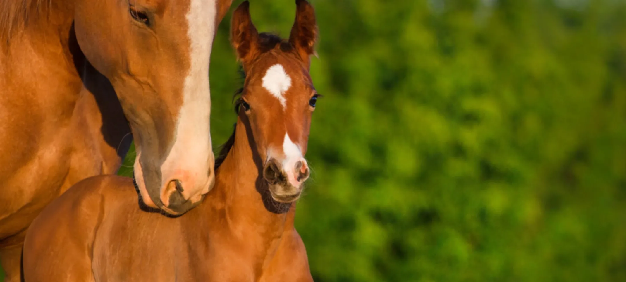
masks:
<path fill-rule="evenodd" d="M 289 41 L 259 34 L 249 3 L 233 14 L 231 41 L 245 79 L 237 125 L 217 160 L 215 187 L 180 217 L 136 208 L 133 181 L 79 182 L 31 225 L 28 281 L 312 281 L 294 228 L 295 200 L 317 93 L 309 76 L 317 27 L 296 1 Z"/>

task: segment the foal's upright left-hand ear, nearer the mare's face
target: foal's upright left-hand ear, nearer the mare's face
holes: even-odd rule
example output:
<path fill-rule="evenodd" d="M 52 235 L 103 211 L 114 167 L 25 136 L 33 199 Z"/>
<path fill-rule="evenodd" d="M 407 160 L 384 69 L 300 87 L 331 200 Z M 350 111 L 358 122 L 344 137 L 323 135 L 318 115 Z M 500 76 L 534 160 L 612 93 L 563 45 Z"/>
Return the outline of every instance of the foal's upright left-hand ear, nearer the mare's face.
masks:
<path fill-rule="evenodd" d="M 250 18 L 250 3 L 244 1 L 233 13 L 230 22 L 230 44 L 237 51 L 237 58 L 246 63 L 254 58 L 257 52 L 259 33 Z"/>

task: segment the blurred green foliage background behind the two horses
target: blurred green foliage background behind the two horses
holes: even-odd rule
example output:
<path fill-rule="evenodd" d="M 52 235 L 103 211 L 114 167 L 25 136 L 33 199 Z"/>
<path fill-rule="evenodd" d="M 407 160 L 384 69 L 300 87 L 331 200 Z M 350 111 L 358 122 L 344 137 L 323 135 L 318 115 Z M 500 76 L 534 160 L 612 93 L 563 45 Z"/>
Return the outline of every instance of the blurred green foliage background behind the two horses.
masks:
<path fill-rule="evenodd" d="M 325 97 L 296 225 L 316 281 L 626 281 L 626 1 L 312 3 Z M 250 10 L 289 34 L 294 1 Z"/>

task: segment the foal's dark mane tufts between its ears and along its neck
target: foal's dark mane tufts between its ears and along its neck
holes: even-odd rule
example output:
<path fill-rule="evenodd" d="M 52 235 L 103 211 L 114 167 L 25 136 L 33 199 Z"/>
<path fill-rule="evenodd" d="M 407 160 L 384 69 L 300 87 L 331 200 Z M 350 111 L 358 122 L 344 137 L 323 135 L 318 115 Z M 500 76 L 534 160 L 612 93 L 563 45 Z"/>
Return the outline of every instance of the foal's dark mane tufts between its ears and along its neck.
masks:
<path fill-rule="evenodd" d="M 280 44 L 281 51 L 290 52 L 294 50 L 294 46 L 291 43 L 283 40 L 282 38 L 280 38 L 280 36 L 272 33 L 259 33 L 258 42 L 259 50 L 261 51 L 261 53 L 267 53 L 271 50 L 274 50 L 277 44 Z M 242 83 L 245 83 L 245 72 L 242 66 L 239 66 L 239 73 L 242 78 Z M 243 101 L 241 98 L 242 93 L 244 93 L 244 86 L 237 89 L 237 91 L 235 91 L 235 93 L 233 94 L 235 113 L 237 113 L 237 115 L 239 115 L 239 108 Z M 228 155 L 228 152 L 230 152 L 230 149 L 233 147 L 233 144 L 235 144 L 235 128 L 233 128 L 233 133 L 230 135 L 230 137 L 228 137 L 228 140 L 226 140 L 226 142 L 220 146 L 220 154 L 218 154 L 217 158 L 215 158 L 216 171 L 226 159 L 226 156 Z"/>

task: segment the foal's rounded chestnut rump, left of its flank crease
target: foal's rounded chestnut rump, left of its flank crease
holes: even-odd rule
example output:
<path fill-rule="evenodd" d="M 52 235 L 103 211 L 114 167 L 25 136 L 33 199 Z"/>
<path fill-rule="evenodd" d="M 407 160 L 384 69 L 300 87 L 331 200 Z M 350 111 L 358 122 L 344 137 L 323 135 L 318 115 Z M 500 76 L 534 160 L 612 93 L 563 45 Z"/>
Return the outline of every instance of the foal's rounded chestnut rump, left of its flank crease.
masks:
<path fill-rule="evenodd" d="M 128 187 L 130 185 L 130 187 Z M 24 269 L 58 271 L 58 261 L 87 263 L 89 249 L 108 206 L 121 197 L 137 199 L 131 179 L 115 175 L 90 177 L 74 184 L 36 217 L 24 240 Z M 83 259 L 81 261 L 81 259 Z M 69 268 L 68 268 L 69 269 Z"/>

